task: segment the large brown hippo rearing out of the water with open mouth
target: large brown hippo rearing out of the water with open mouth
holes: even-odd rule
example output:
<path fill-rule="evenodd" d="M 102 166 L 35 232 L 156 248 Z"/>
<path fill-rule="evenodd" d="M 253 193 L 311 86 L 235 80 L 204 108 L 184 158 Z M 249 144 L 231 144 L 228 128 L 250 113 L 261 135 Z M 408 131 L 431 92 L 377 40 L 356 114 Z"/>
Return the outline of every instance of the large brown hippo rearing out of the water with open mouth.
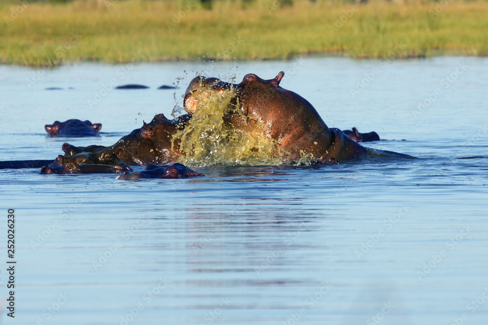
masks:
<path fill-rule="evenodd" d="M 329 128 L 315 108 L 302 96 L 280 86 L 285 73 L 272 79 L 247 74 L 239 84 L 217 78 L 195 77 L 184 96 L 184 109 L 195 114 L 199 99 L 232 92 L 231 104 L 242 114 L 229 116 L 238 129 L 263 133 L 276 143 L 285 161 L 307 157 L 311 162 L 335 164 L 378 155 L 411 157 L 400 153 L 365 148 L 336 128 Z"/>

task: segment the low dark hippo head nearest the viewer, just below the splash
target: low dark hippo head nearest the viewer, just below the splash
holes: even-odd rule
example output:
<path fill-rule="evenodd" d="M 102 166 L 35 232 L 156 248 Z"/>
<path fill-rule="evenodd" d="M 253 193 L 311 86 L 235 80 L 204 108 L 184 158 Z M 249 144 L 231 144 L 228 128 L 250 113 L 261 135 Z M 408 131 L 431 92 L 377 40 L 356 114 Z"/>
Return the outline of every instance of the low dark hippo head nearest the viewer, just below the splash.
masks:
<path fill-rule="evenodd" d="M 117 177 L 117 179 L 187 178 L 193 176 L 204 175 L 179 163 L 163 166 L 149 164 L 142 172 L 123 172 L 122 175 Z"/>

